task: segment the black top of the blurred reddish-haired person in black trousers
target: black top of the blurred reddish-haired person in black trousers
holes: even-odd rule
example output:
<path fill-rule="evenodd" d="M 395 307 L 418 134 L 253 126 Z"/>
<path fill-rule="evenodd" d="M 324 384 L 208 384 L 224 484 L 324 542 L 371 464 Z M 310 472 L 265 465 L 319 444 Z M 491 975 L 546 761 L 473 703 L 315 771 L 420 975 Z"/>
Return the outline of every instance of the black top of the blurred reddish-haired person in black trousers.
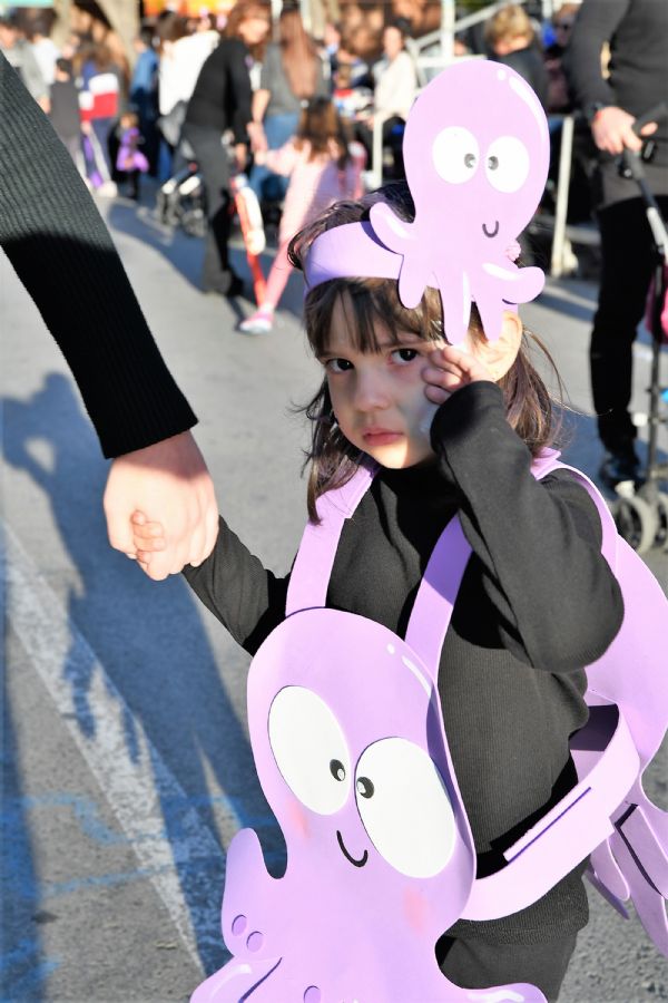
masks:
<path fill-rule="evenodd" d="M 250 55 L 238 38 L 224 38 L 199 70 L 186 123 L 223 134 L 234 132 L 235 143 L 247 143 L 252 119 Z"/>

